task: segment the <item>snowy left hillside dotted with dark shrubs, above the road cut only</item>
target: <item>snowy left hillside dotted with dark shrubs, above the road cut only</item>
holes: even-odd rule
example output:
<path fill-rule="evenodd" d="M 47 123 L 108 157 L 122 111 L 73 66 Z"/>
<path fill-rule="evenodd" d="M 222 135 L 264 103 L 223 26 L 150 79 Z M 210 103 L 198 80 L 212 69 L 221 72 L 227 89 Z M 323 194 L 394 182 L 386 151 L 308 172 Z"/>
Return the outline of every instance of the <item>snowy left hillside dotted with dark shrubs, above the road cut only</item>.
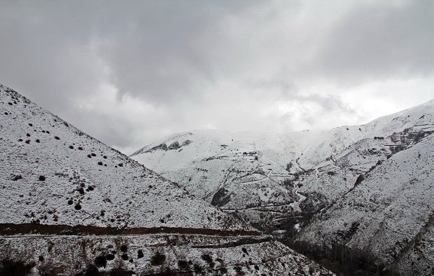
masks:
<path fill-rule="evenodd" d="M 3 85 L 0 110 L 0 223 L 250 229 Z"/>

